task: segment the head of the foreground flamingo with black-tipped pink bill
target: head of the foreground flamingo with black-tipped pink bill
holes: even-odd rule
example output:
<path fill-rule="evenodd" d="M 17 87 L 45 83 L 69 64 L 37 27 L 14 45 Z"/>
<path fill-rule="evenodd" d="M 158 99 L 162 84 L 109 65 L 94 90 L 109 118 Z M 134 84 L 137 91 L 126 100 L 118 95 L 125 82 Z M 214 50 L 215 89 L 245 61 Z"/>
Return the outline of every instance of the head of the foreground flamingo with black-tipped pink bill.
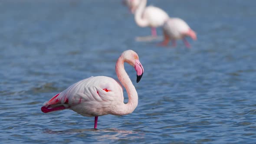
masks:
<path fill-rule="evenodd" d="M 129 65 L 133 66 L 135 68 L 135 71 L 137 72 L 137 83 L 141 80 L 141 77 L 143 75 L 144 69 L 141 65 L 141 62 L 139 61 L 139 56 L 136 52 L 133 50 L 127 50 L 123 52 L 123 58 L 124 61 L 127 62 Z"/>

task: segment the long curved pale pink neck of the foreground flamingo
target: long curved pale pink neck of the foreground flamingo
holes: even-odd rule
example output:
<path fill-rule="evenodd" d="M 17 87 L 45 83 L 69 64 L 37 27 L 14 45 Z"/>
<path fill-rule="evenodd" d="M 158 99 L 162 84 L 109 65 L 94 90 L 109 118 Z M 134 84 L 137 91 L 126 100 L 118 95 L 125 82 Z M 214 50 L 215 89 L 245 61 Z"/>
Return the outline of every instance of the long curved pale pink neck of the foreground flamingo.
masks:
<path fill-rule="evenodd" d="M 128 74 L 125 72 L 124 62 L 125 60 L 123 59 L 123 55 L 121 55 L 116 62 L 115 72 L 117 74 L 119 81 L 127 91 L 128 103 L 127 104 L 124 103 L 124 105 L 121 105 L 118 108 L 117 114 L 113 114 L 113 115 L 128 115 L 132 111 L 134 111 L 138 105 L 138 93 L 136 92 L 136 89 L 132 84 Z"/>

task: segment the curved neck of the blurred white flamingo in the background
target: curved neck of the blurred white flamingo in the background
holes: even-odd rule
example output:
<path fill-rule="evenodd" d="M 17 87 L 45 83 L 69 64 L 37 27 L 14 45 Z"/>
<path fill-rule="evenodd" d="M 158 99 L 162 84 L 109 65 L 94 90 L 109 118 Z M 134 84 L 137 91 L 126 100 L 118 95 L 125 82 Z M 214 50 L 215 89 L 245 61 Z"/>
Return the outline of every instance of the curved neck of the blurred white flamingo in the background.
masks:
<path fill-rule="evenodd" d="M 148 26 L 148 20 L 142 18 L 143 11 L 147 5 L 147 0 L 141 0 L 137 10 L 135 11 L 135 22 L 138 26 L 146 27 Z"/>

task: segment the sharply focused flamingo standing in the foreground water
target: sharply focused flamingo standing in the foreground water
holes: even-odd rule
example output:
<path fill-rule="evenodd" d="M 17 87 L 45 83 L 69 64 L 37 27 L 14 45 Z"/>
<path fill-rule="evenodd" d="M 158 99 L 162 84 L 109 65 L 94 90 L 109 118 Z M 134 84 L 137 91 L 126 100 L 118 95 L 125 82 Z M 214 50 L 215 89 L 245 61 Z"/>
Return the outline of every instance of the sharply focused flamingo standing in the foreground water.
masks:
<path fill-rule="evenodd" d="M 94 128 L 97 128 L 98 116 L 128 115 L 138 105 L 138 94 L 125 72 L 124 62 L 135 68 L 137 83 L 141 80 L 144 69 L 138 54 L 126 50 L 118 58 L 115 72 L 128 93 L 128 103 L 124 103 L 123 88 L 115 79 L 106 76 L 95 76 L 83 79 L 60 92 L 46 102 L 41 111 L 44 113 L 71 109 L 82 116 L 95 117 Z"/>

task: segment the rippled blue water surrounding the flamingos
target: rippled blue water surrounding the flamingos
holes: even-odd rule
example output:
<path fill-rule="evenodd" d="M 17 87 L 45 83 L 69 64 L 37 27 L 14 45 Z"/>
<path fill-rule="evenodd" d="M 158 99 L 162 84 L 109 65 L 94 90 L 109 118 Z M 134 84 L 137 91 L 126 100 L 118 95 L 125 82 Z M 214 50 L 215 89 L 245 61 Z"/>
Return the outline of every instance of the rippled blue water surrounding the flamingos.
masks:
<path fill-rule="evenodd" d="M 0 2 L 0 143 L 255 143 L 255 0 L 149 0 L 187 21 L 198 40 L 176 48 L 137 42 L 140 28 L 120 0 Z M 161 35 L 161 29 L 158 29 Z M 130 115 L 93 117 L 43 103 L 90 76 L 117 79 L 133 49 L 141 82 L 125 65 L 139 103 Z M 128 101 L 125 92 L 125 101 Z"/>

